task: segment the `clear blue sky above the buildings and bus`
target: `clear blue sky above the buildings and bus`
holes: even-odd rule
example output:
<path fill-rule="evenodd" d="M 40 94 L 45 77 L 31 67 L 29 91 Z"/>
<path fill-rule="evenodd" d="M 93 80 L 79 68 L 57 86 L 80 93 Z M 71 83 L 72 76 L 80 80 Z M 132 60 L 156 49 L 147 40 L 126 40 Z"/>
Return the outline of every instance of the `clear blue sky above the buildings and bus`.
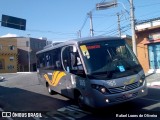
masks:
<path fill-rule="evenodd" d="M 90 36 L 90 19 L 92 12 L 94 36 L 117 36 L 118 17 L 122 34 L 131 35 L 130 4 L 128 0 L 117 0 L 118 6 L 96 10 L 96 4 L 111 0 L 0 0 L 2 14 L 26 19 L 26 30 L 17 30 L 0 26 L 0 36 L 16 34 L 23 37 L 45 37 L 51 41 L 63 41 Z M 133 0 L 135 19 L 148 20 L 160 17 L 159 0 Z"/>

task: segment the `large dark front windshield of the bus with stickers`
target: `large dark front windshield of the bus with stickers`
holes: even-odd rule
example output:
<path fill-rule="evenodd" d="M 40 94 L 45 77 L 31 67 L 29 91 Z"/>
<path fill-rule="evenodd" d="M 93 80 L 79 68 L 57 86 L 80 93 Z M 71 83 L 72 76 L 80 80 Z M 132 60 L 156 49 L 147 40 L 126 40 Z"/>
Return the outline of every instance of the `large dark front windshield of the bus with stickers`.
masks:
<path fill-rule="evenodd" d="M 115 79 L 142 70 L 136 56 L 124 40 L 105 40 L 80 44 L 89 78 Z"/>

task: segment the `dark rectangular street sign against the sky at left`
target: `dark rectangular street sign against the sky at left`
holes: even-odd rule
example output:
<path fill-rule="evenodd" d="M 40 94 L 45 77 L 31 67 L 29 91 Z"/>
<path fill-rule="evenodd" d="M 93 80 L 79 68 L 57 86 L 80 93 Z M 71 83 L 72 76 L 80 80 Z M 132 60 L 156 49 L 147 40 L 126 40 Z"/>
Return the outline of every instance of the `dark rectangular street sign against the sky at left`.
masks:
<path fill-rule="evenodd" d="M 1 26 L 26 30 L 26 20 L 8 15 L 2 15 Z"/>

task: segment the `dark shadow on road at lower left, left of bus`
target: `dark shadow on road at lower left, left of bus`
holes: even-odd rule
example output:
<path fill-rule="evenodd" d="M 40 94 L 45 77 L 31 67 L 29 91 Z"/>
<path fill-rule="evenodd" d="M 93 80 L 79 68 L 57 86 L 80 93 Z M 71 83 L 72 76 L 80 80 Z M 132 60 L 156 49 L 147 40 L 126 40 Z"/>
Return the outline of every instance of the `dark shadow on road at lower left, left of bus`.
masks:
<path fill-rule="evenodd" d="M 70 102 L 19 88 L 0 86 L 0 107 L 7 111 L 52 111 Z"/>

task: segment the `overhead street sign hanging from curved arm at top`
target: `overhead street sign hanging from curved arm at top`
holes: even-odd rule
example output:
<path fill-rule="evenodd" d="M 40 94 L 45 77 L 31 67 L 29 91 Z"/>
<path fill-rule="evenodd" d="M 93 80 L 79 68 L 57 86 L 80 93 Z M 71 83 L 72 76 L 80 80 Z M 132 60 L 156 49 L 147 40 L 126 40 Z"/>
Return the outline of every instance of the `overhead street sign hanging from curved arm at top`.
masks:
<path fill-rule="evenodd" d="M 96 4 L 97 10 L 105 10 L 107 8 L 116 7 L 117 6 L 117 0 L 111 1 L 111 2 L 102 2 Z"/>

